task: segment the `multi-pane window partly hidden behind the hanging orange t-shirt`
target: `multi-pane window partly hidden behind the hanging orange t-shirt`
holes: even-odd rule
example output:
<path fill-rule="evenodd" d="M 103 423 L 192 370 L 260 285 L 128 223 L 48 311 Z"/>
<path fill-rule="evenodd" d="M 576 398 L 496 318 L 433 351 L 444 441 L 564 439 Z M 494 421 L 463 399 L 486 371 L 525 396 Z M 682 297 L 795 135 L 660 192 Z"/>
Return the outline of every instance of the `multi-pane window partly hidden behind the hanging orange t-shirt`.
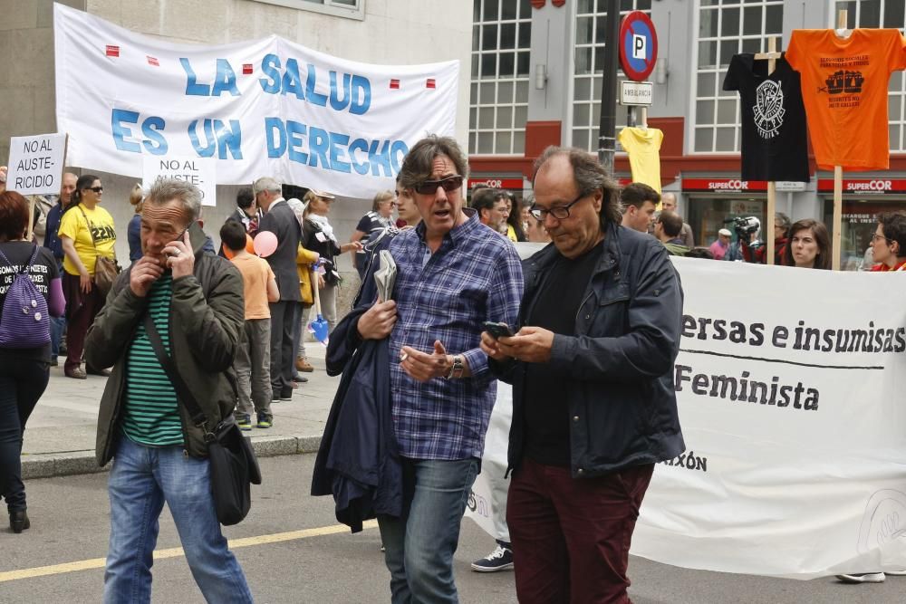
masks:
<path fill-rule="evenodd" d="M 849 0 L 836 2 L 834 6 L 834 24 L 837 11 L 846 9 L 847 27 L 891 27 L 901 32 L 906 27 L 906 5 L 903 0 Z M 903 72 L 893 72 L 887 96 L 888 132 L 891 137 L 891 150 L 906 150 L 906 78 Z"/>

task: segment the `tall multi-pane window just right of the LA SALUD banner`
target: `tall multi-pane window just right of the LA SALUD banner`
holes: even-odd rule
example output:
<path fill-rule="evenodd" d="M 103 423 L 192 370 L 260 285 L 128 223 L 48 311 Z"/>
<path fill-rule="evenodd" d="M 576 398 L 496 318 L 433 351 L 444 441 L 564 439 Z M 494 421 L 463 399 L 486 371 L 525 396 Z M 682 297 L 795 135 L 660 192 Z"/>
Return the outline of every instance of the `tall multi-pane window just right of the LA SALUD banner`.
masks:
<path fill-rule="evenodd" d="M 468 152 L 523 155 L 528 120 L 529 0 L 473 0 Z"/>

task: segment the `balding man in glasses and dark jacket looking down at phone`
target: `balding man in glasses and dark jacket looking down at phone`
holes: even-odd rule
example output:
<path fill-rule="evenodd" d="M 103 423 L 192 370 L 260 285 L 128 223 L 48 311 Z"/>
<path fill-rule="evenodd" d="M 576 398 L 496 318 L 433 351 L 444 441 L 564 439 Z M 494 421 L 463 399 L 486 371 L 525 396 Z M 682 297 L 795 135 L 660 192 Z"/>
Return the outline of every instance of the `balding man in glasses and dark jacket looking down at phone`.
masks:
<path fill-rule="evenodd" d="M 523 603 L 628 601 L 654 464 L 684 449 L 679 276 L 660 242 L 620 225 L 616 191 L 592 155 L 545 150 L 532 214 L 554 245 L 525 264 L 516 336 L 482 334 L 513 383 L 506 516 Z"/>

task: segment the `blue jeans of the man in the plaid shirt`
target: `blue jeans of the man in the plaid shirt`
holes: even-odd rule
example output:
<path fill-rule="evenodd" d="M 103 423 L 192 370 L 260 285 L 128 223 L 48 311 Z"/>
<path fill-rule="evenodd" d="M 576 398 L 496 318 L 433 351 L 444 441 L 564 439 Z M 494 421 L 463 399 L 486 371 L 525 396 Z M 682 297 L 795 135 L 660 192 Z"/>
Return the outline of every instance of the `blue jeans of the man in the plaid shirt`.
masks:
<path fill-rule="evenodd" d="M 459 601 L 453 553 L 479 463 L 402 458 L 402 517 L 378 516 L 393 604 Z"/>

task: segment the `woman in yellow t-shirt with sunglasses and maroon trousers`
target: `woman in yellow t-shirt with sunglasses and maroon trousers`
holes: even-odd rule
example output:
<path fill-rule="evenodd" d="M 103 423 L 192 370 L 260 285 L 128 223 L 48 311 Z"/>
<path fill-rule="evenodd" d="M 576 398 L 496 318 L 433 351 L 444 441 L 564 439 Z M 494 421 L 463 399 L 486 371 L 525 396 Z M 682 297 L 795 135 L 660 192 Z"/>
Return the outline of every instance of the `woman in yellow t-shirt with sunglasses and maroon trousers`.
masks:
<path fill-rule="evenodd" d="M 75 183 L 72 201 L 63 211 L 60 220 L 60 241 L 63 244 L 63 293 L 66 294 L 67 357 L 66 377 L 85 379 L 82 369 L 82 350 L 85 333 L 94 317 L 101 312 L 104 299 L 92 282 L 94 263 L 98 255 L 115 257 L 116 230 L 113 216 L 99 206 L 104 187 L 101 179 L 91 174 L 83 175 Z M 106 376 L 101 368 L 86 367 L 87 373 Z"/>

